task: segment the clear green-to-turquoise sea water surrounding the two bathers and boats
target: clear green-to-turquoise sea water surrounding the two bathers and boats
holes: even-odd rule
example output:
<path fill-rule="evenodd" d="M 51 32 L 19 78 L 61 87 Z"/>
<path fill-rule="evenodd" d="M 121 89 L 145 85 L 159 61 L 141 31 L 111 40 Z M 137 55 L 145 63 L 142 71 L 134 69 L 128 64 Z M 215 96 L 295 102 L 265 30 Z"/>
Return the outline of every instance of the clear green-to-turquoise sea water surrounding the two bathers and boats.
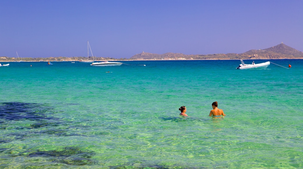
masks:
<path fill-rule="evenodd" d="M 303 168 L 303 60 L 269 61 L 292 67 L 10 62 L 0 168 Z M 226 117 L 208 117 L 214 101 Z"/>

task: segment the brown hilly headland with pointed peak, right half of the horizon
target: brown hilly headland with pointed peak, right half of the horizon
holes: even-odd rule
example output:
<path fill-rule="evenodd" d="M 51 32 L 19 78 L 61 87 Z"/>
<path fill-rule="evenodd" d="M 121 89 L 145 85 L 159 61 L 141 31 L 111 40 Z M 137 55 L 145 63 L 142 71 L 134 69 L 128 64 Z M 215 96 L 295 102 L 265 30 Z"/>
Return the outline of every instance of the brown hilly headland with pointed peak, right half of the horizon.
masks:
<path fill-rule="evenodd" d="M 142 52 L 130 59 L 294 59 L 303 58 L 303 52 L 291 48 L 283 43 L 259 50 L 249 50 L 245 53 L 236 54 L 210 54 L 210 55 L 185 55 L 182 53 L 153 54 Z"/>

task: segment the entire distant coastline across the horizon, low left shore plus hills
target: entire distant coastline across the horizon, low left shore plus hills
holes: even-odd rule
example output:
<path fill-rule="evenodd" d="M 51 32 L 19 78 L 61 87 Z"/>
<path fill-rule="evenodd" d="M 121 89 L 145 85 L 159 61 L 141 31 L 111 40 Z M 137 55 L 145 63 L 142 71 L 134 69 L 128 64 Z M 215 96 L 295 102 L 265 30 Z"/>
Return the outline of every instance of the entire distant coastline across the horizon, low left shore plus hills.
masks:
<path fill-rule="evenodd" d="M 259 50 L 249 50 L 245 53 L 236 54 L 209 54 L 209 55 L 185 55 L 182 53 L 165 53 L 153 54 L 142 52 L 131 58 L 103 58 L 95 57 L 95 61 L 134 61 L 134 60 L 240 60 L 240 59 L 303 59 L 303 52 L 291 48 L 283 42 L 279 45 Z M 89 58 L 93 60 L 93 57 Z M 48 57 L 48 58 L 22 58 L 22 61 L 81 61 L 87 60 L 87 57 Z M 1 62 L 18 62 L 18 58 L 10 58 L 6 56 L 0 57 Z"/>

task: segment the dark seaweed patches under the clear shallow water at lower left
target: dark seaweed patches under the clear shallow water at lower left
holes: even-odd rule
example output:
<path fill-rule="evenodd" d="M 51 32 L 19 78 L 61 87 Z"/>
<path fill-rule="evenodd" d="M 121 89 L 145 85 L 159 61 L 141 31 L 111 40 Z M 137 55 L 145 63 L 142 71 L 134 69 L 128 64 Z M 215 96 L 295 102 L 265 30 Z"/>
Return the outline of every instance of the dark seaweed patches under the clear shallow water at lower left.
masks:
<path fill-rule="evenodd" d="M 68 127 L 56 129 L 58 126 L 66 126 L 66 122 L 60 121 L 59 118 L 50 117 L 50 114 L 55 113 L 52 110 L 49 106 L 37 103 L 0 103 L 0 124 L 2 124 L 0 130 L 5 131 L 0 134 L 0 155 L 2 157 L 46 157 L 47 161 L 63 165 L 82 166 L 94 164 L 95 161 L 90 158 L 95 153 L 92 151 L 82 151 L 76 146 L 58 147 L 56 150 L 51 151 L 32 150 L 30 148 L 20 151 L 19 149 L 5 147 L 5 143 L 16 140 L 27 140 L 40 134 L 58 137 L 78 135 L 67 134 Z M 24 127 L 18 126 L 20 125 L 18 121 L 33 121 L 34 123 Z M 48 128 L 48 130 L 37 131 L 36 129 L 38 128 Z"/>

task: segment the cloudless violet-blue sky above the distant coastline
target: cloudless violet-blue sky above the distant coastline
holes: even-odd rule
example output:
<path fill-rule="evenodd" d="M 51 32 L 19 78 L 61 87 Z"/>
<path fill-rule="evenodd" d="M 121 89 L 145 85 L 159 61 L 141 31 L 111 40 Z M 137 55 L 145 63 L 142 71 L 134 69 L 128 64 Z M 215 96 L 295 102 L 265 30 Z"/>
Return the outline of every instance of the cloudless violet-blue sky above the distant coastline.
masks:
<path fill-rule="evenodd" d="M 303 51 L 301 0 L 2 0 L 0 56 Z M 91 56 L 91 54 L 90 54 Z"/>

